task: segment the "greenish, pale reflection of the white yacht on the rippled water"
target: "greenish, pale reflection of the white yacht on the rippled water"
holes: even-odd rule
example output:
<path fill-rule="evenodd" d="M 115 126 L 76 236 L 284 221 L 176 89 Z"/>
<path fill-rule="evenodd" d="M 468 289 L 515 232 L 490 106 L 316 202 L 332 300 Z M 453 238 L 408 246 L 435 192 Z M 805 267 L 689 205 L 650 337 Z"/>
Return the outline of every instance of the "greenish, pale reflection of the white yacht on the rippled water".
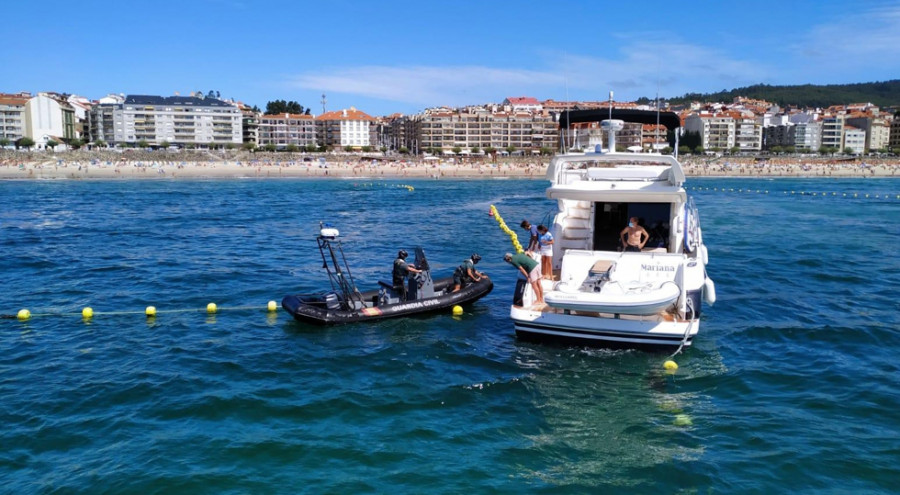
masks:
<path fill-rule="evenodd" d="M 524 463 L 523 474 L 559 485 L 628 486 L 635 470 L 700 459 L 695 430 L 714 408 L 691 382 L 724 370 L 717 354 L 688 355 L 673 375 L 662 354 L 519 345 L 516 363 L 530 370 L 523 382 L 540 418 L 528 438 L 552 453 L 541 465 Z"/>

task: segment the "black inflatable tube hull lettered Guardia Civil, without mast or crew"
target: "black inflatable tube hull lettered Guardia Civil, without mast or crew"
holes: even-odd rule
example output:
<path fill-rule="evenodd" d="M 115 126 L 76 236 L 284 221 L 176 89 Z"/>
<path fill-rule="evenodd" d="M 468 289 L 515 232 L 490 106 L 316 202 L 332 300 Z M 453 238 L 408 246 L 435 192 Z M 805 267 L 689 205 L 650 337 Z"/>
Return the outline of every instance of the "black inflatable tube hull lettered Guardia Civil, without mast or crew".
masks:
<path fill-rule="evenodd" d="M 443 292 L 453 284 L 453 277 L 447 277 L 434 281 L 435 292 Z M 423 313 L 431 313 L 448 310 L 456 305 L 468 304 L 488 295 L 494 288 L 494 283 L 487 277 L 478 282 L 473 282 L 459 290 L 440 296 L 406 301 L 397 304 L 367 307 L 359 310 L 345 311 L 340 309 L 328 309 L 324 295 L 300 294 L 285 296 L 281 300 L 281 307 L 290 313 L 298 321 L 317 325 L 341 325 L 346 323 L 358 323 L 361 321 L 376 321 L 385 318 L 396 318 Z M 362 293 L 363 301 L 373 301 L 378 297 L 378 290 Z"/>

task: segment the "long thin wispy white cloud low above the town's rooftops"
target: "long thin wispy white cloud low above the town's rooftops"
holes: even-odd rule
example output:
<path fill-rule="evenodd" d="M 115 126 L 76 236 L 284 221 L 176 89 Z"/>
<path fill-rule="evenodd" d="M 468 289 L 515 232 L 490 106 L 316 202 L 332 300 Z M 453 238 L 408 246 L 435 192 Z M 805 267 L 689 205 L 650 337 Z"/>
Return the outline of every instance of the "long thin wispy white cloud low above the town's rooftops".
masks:
<path fill-rule="evenodd" d="M 485 66 L 363 66 L 318 70 L 289 78 L 297 89 L 344 93 L 421 106 L 466 105 L 506 96 L 620 99 L 652 96 L 657 83 L 664 95 L 711 91 L 758 82 L 766 70 L 723 53 L 687 43 L 640 42 L 619 58 L 543 54 L 535 70 Z M 698 84 L 701 83 L 701 84 Z M 618 97 L 617 97 L 618 98 Z"/>

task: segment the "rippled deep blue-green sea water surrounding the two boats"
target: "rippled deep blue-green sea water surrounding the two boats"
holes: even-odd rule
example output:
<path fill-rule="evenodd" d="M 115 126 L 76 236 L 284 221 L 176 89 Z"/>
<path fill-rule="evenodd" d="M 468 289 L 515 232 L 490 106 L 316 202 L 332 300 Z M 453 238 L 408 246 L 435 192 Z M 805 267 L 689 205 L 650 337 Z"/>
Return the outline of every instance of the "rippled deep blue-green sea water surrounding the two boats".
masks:
<path fill-rule="evenodd" d="M 402 183 L 0 183 L 0 313 L 34 314 L 0 320 L 0 492 L 896 492 L 900 181 L 690 180 L 718 302 L 675 375 L 516 340 L 487 212 L 543 221 L 546 182 Z M 421 244 L 495 289 L 458 319 L 268 314 L 324 288 L 320 220 L 361 288 Z"/>

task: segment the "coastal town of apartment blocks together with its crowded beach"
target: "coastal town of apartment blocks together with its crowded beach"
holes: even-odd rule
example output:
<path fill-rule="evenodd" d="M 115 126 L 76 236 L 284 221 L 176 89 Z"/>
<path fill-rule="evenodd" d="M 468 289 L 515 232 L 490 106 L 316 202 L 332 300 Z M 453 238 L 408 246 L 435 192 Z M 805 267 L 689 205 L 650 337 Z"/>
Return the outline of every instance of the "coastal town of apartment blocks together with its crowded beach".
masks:
<path fill-rule="evenodd" d="M 567 125 L 560 122 L 564 111 L 610 105 L 656 110 L 655 102 L 620 102 L 612 95 L 609 101 L 522 96 L 371 116 L 353 107 L 329 110 L 323 95 L 317 115 L 302 106 L 298 113 L 268 114 L 214 91 L 110 94 L 96 100 L 55 92 L 0 93 L 0 174 L 147 176 L 150 167 L 157 175 L 183 170 L 182 175 L 245 176 L 255 170 L 255 176 L 539 176 L 546 157 L 558 150 L 606 146 L 596 123 Z M 677 152 L 691 175 L 898 172 L 895 109 L 871 103 L 780 107 L 743 97 L 660 107 L 681 118 Z M 625 123 L 616 151 L 672 153 L 673 143 L 663 126 Z M 328 154 L 314 158 L 323 153 Z M 110 170 L 104 173 L 105 168 Z"/>

